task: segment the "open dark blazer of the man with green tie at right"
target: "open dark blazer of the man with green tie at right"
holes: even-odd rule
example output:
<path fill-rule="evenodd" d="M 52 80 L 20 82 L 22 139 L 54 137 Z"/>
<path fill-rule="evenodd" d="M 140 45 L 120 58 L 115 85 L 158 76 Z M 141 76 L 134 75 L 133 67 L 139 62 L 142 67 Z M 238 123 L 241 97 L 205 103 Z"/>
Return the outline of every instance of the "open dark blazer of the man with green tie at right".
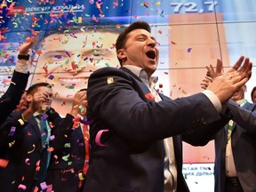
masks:
<path fill-rule="evenodd" d="M 234 117 L 231 146 L 237 176 L 246 192 L 256 190 L 256 106 L 246 103 L 239 107 L 230 101 L 228 108 Z M 215 136 L 215 191 L 225 191 L 226 167 L 225 154 L 228 142 L 228 124 Z"/>

